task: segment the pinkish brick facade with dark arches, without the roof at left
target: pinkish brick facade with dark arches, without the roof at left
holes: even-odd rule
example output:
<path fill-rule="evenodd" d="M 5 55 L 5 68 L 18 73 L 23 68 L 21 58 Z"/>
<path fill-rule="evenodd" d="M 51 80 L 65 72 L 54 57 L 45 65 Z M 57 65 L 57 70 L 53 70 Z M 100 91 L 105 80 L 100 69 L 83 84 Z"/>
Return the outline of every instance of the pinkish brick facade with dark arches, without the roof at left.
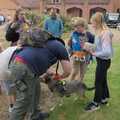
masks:
<path fill-rule="evenodd" d="M 68 16 L 84 16 L 89 20 L 96 11 L 120 12 L 120 0 L 41 0 L 40 11 L 55 8 Z"/>

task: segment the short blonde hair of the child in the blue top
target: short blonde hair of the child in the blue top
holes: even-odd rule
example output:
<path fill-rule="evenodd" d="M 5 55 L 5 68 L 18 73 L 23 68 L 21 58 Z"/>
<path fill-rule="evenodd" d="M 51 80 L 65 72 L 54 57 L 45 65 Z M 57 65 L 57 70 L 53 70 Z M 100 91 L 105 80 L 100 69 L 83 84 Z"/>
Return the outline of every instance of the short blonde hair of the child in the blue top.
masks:
<path fill-rule="evenodd" d="M 86 19 L 82 17 L 73 17 L 71 20 L 71 24 L 73 25 L 73 27 L 81 26 L 85 29 L 88 29 L 88 23 Z"/>

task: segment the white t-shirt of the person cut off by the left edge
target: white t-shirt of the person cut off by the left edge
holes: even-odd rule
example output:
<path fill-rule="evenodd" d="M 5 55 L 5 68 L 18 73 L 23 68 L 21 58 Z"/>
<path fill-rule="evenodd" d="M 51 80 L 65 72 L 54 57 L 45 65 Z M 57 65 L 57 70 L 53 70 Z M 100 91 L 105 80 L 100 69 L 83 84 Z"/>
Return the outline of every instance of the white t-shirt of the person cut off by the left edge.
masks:
<path fill-rule="evenodd" d="M 0 53 L 0 80 L 6 80 L 10 76 L 8 64 L 13 52 L 16 49 L 17 46 L 8 47 L 6 50 Z"/>

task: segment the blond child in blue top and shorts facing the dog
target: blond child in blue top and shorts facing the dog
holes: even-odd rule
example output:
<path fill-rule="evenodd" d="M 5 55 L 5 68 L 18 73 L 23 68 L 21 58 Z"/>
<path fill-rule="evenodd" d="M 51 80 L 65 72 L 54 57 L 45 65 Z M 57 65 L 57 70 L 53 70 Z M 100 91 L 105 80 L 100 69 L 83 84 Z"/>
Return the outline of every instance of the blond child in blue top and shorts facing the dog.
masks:
<path fill-rule="evenodd" d="M 81 82 L 83 82 L 86 67 L 90 60 L 90 54 L 83 49 L 83 45 L 85 42 L 94 43 L 94 35 L 87 32 L 86 28 L 86 20 L 84 18 L 77 19 L 74 23 L 74 31 L 72 32 L 69 41 L 73 62 L 71 80 L 80 80 Z"/>

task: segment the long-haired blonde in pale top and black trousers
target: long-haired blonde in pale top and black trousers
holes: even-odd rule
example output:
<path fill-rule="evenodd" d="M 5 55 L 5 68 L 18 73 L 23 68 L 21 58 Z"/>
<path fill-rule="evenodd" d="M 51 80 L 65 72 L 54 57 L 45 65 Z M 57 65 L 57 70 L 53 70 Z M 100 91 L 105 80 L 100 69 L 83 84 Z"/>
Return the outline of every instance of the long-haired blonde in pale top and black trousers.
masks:
<path fill-rule="evenodd" d="M 95 95 L 93 101 L 86 106 L 86 111 L 97 110 L 100 105 L 108 103 L 110 95 L 107 84 L 107 71 L 113 56 L 113 35 L 105 24 L 104 15 L 100 12 L 95 13 L 91 18 L 91 23 L 96 34 L 96 49 L 91 51 L 91 54 L 96 57 L 97 66 L 95 72 Z"/>

